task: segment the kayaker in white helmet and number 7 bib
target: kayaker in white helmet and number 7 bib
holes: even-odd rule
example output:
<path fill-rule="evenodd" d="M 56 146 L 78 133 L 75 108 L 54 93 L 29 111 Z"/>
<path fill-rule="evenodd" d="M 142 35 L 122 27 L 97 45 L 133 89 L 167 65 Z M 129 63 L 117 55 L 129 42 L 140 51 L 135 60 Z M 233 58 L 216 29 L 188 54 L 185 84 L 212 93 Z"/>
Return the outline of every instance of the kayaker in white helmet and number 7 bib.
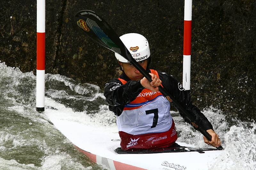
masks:
<path fill-rule="evenodd" d="M 177 140 L 174 121 L 170 115 L 170 103 L 159 91 L 161 84 L 176 101 L 200 122 L 212 136 L 204 142 L 218 147 L 219 136 L 212 124 L 201 111 L 192 104 L 190 95 L 172 75 L 149 69 L 151 61 L 147 39 L 137 33 L 120 37 L 132 57 L 151 75 L 149 82 L 128 60 L 115 53 L 120 66 L 120 76 L 105 85 L 104 96 L 109 110 L 115 113 L 116 123 L 123 150 L 154 149 L 171 146 Z M 180 112 L 182 117 L 183 114 Z M 185 121 L 190 122 L 185 118 Z"/>

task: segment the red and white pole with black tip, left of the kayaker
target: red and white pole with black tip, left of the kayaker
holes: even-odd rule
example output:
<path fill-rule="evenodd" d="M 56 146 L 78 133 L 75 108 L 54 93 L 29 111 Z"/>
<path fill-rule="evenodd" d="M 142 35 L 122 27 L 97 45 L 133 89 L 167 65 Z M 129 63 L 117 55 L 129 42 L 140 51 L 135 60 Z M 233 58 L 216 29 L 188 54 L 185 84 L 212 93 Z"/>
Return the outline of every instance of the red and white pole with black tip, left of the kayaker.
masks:
<path fill-rule="evenodd" d="M 36 111 L 44 111 L 45 0 L 36 7 Z"/>

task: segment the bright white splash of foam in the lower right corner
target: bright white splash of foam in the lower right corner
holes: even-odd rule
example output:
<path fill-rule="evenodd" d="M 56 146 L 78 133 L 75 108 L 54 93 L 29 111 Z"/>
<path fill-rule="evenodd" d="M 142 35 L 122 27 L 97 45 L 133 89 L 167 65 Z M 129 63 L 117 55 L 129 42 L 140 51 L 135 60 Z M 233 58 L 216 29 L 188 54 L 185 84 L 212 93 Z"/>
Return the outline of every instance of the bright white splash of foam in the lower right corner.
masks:
<path fill-rule="evenodd" d="M 225 150 L 212 169 L 256 169 L 255 123 L 244 122 L 230 127 L 225 134 L 225 142 Z"/>

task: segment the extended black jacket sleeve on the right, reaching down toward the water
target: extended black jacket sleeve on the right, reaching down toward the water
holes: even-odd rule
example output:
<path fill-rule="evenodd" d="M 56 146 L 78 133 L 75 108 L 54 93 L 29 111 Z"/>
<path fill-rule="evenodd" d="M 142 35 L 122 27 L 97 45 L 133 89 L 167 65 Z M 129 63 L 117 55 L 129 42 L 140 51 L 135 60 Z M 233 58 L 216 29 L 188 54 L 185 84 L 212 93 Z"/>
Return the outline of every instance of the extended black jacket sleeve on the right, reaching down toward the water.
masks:
<path fill-rule="evenodd" d="M 204 130 L 213 129 L 212 124 L 204 116 L 204 114 L 191 102 L 191 97 L 179 81 L 177 81 L 172 75 L 159 72 L 159 78 L 162 80 L 164 88 L 170 93 L 170 95 L 179 102 L 193 117 L 195 117 L 195 123 L 201 124 Z M 177 108 L 175 106 L 177 110 Z M 185 117 L 185 115 L 179 110 L 180 115 L 185 119 L 189 124 L 191 122 Z"/>

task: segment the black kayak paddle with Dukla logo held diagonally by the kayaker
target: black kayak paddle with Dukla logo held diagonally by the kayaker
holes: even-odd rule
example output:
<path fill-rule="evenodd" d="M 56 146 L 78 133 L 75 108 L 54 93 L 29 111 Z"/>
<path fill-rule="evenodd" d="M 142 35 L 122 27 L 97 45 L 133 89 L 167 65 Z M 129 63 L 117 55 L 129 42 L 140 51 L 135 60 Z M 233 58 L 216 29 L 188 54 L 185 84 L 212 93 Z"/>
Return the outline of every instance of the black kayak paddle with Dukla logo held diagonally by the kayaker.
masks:
<path fill-rule="evenodd" d="M 97 15 L 93 11 L 82 10 L 76 13 L 75 16 L 76 24 L 93 40 L 95 40 L 100 45 L 112 50 L 116 53 L 121 54 L 125 59 L 129 60 L 132 65 L 140 71 L 143 76 L 145 76 L 148 81 L 151 80 L 151 76 L 137 63 L 136 60 L 132 58 L 129 50 L 124 46 L 119 36 L 116 32 L 108 25 L 108 23 Z M 185 117 L 188 119 L 190 124 L 200 131 L 209 141 L 211 141 L 212 136 L 202 128 L 202 125 L 195 121 L 195 118 L 188 113 L 184 107 L 177 102 L 164 88 L 158 87 L 159 91 L 164 95 L 164 97 L 170 102 L 176 105 Z M 218 150 L 223 150 L 222 146 L 216 147 Z"/>

